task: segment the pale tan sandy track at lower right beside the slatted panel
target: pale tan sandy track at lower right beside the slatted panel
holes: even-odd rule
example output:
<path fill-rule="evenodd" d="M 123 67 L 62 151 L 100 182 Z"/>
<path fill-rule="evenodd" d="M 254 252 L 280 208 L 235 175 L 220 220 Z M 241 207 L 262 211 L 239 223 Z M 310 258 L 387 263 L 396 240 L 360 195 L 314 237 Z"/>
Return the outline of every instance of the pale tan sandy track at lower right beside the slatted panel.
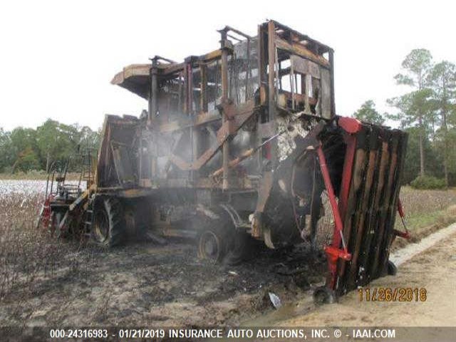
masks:
<path fill-rule="evenodd" d="M 447 232 L 446 236 L 445 232 L 438 232 L 441 239 L 423 252 L 414 253 L 420 250 L 420 244 L 400 252 L 395 256 L 403 262 L 398 274 L 376 279 L 369 286 L 371 289 L 425 288 L 424 302 L 360 301 L 358 291 L 353 291 L 341 297 L 337 304 L 319 308 L 304 298 L 285 306 L 283 311 L 259 317 L 259 322 L 280 326 L 456 326 L 455 228 L 453 225 L 451 234 Z M 423 245 L 437 241 L 438 233 L 423 239 Z"/>

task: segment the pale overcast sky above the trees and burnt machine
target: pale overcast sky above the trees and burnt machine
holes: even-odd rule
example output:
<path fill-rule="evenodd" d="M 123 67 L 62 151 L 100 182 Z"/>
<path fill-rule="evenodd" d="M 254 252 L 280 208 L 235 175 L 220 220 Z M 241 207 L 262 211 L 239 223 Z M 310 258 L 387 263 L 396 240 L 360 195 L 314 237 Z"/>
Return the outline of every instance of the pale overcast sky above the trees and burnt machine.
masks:
<path fill-rule="evenodd" d="M 454 1 L 1 1 L 0 128 L 47 118 L 98 129 L 147 103 L 110 84 L 124 66 L 219 47 L 225 25 L 255 35 L 274 19 L 335 51 L 336 112 L 380 113 L 407 89 L 393 77 L 413 48 L 456 63 Z"/>

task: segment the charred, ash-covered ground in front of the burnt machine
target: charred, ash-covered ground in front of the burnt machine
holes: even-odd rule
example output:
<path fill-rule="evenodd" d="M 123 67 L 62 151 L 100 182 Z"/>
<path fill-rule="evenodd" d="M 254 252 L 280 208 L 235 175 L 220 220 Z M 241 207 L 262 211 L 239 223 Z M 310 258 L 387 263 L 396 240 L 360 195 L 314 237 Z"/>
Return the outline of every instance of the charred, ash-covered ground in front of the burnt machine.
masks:
<path fill-rule="evenodd" d="M 74 247 L 73 247 L 74 248 Z M 197 259 L 195 247 L 130 244 L 70 252 L 53 273 L 18 284 L 0 306 L 9 325 L 231 325 L 323 281 L 324 259 L 305 248 L 259 251 L 239 266 Z"/>

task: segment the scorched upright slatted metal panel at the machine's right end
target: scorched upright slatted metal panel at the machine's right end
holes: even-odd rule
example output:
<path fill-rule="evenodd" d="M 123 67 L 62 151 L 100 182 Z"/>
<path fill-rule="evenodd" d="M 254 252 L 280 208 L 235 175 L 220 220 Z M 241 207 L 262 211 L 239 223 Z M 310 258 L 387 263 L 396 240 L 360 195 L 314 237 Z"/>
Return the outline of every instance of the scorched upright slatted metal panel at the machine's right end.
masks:
<path fill-rule="evenodd" d="M 338 262 L 338 294 L 386 274 L 407 143 L 406 133 L 400 130 L 366 123 L 353 138 L 351 184 L 346 206 L 341 208 L 343 236 L 352 258 Z"/>

